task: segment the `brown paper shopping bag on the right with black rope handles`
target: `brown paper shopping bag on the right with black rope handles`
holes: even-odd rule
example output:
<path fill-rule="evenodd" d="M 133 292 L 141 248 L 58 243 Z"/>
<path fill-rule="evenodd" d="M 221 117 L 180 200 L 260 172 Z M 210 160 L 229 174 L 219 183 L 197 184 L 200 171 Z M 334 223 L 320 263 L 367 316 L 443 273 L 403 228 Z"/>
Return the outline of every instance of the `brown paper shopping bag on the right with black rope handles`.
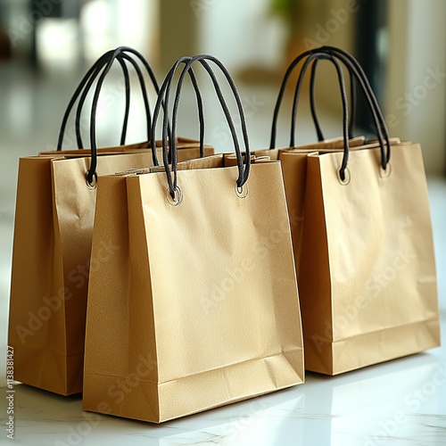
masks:
<path fill-rule="evenodd" d="M 350 55 L 330 51 L 360 72 Z M 328 375 L 440 343 L 421 147 L 392 144 L 376 98 L 368 92 L 368 99 L 379 146 L 349 151 L 345 137 L 343 153 L 311 153 L 307 161 L 299 270 L 305 361 Z"/>

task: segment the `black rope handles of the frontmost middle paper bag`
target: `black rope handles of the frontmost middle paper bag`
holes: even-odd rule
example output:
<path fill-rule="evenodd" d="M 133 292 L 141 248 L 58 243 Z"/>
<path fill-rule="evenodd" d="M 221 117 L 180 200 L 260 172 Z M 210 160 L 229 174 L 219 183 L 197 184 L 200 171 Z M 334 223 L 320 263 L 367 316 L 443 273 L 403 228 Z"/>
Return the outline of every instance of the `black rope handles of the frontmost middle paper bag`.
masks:
<path fill-rule="evenodd" d="M 235 95 L 235 101 L 237 103 L 237 108 L 239 110 L 239 114 L 240 114 L 240 118 L 241 118 L 241 122 L 242 122 L 242 131 L 244 134 L 244 146 L 245 146 L 245 152 L 246 152 L 244 159 L 243 159 L 242 153 L 240 151 L 240 146 L 238 144 L 238 139 L 236 136 L 234 122 L 231 118 L 230 111 L 227 108 L 227 103 L 226 103 L 224 96 L 221 92 L 221 89 L 219 87 L 219 82 L 218 82 L 217 78 L 215 77 L 215 74 L 211 70 L 211 67 L 209 66 L 209 64 L 207 64 L 207 62 L 205 62 L 206 59 L 217 64 L 219 69 L 223 71 L 223 73 L 225 74 L 225 77 L 227 78 L 227 82 L 228 82 L 229 86 L 231 87 L 233 94 Z M 152 126 L 153 132 L 154 132 L 156 120 L 158 119 L 159 112 L 161 109 L 161 100 L 164 99 L 165 103 L 169 103 L 169 94 L 170 94 L 171 84 L 172 84 L 172 80 L 174 78 L 175 72 L 176 72 L 176 70 L 178 70 L 178 67 L 180 64 L 185 64 L 186 66 L 185 66 L 183 72 L 181 73 L 180 78 L 178 79 L 177 92 L 176 92 L 175 101 L 174 101 L 174 111 L 172 113 L 172 115 L 173 115 L 172 116 L 172 135 L 176 135 L 178 104 L 179 104 L 179 98 L 180 98 L 180 94 L 181 94 L 181 87 L 182 87 L 186 72 L 191 70 L 192 64 L 196 61 L 201 62 L 204 69 L 207 70 L 209 75 L 211 76 L 212 83 L 213 83 L 216 93 L 219 97 L 219 102 L 220 102 L 222 109 L 225 113 L 225 117 L 227 119 L 230 131 L 231 131 L 231 135 L 233 136 L 233 140 L 234 140 L 234 144 L 235 144 L 235 153 L 236 153 L 237 165 L 238 165 L 238 170 L 239 170 L 239 177 L 237 178 L 237 186 L 242 187 L 249 177 L 249 171 L 250 171 L 250 165 L 251 165 L 251 156 L 250 156 L 250 151 L 249 151 L 249 140 L 248 140 L 248 136 L 247 136 L 246 120 L 244 118 L 244 109 L 243 109 L 243 104 L 240 99 L 240 96 L 238 95 L 238 91 L 235 87 L 235 83 L 234 83 L 233 79 L 231 78 L 230 74 L 228 73 L 228 71 L 226 70 L 224 65 L 221 62 L 219 62 L 219 60 L 217 58 L 215 58 L 211 55 L 208 55 L 208 54 L 201 54 L 201 55 L 198 55 L 195 57 L 187 57 L 187 56 L 182 57 L 182 58 L 178 59 L 177 62 L 174 63 L 172 68 L 169 70 L 168 75 L 164 79 L 163 84 L 161 85 L 160 95 L 158 96 L 158 101 L 157 101 L 157 103 L 155 105 L 155 109 L 153 111 L 153 126 Z M 165 114 L 164 114 L 164 119 L 163 119 L 163 137 L 162 137 L 163 159 L 164 159 L 164 169 L 166 170 L 166 175 L 167 175 L 168 184 L 169 184 L 169 194 L 173 199 L 175 199 L 175 193 L 177 190 L 177 145 L 176 145 L 176 139 L 173 138 L 173 141 L 172 141 L 172 170 L 174 173 L 174 179 L 172 180 L 171 172 L 169 169 L 169 162 L 166 162 L 166 161 L 168 161 L 167 156 L 166 156 L 166 153 L 167 153 L 166 123 L 168 121 L 168 112 L 166 112 L 166 110 L 164 111 Z M 154 149 L 155 149 L 155 147 L 153 144 L 153 155 L 156 156 Z"/>

